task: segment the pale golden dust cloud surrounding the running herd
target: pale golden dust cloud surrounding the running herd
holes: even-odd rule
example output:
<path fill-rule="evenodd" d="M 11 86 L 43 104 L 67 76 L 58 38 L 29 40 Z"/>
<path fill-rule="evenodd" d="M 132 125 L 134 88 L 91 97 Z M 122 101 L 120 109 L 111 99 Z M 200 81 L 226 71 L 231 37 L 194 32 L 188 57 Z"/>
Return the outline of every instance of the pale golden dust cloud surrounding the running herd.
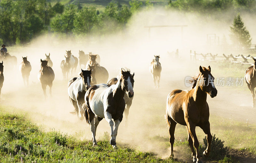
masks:
<path fill-rule="evenodd" d="M 245 15 L 245 18 L 242 15 L 245 26 L 250 32 L 252 31 L 253 37 L 256 33 L 250 30 L 254 29 L 250 22 L 254 21 L 247 19 L 248 17 L 249 15 Z M 220 52 L 220 49 L 213 49 L 206 44 L 207 34 L 216 34 L 220 39 L 225 35 L 228 40 L 231 23 L 232 19 L 224 22 L 203 15 L 155 8 L 135 14 L 122 32 L 80 38 L 47 34 L 35 38 L 28 45 L 7 47 L 9 53 L 17 57 L 18 64 L 22 61 L 21 56 L 28 56 L 32 71 L 29 77 L 30 85 L 25 87 L 18 65 L 14 70 L 4 67 L 5 81 L 1 105 L 15 108 L 14 113 L 25 112 L 33 122 L 42 125 L 46 131 L 60 130 L 79 139 L 90 140 L 90 127 L 85 120 L 77 120 L 76 115 L 69 113 L 74 107 L 68 99 L 68 81 L 62 79 L 60 62 L 64 59 L 65 50 L 71 50 L 76 57 L 78 50 L 84 50 L 86 54 L 89 52 L 99 54 L 100 65 L 108 70 L 109 79 L 116 77 L 121 67 L 128 67 L 132 73 L 135 73 L 135 95 L 130 108 L 129 122 L 127 127 L 124 127 L 125 118 L 121 122 L 117 145 L 152 151 L 164 158 L 170 152 L 169 148 L 163 148 L 163 144 L 169 147 L 168 139 L 164 139 L 162 145 L 157 139 L 169 137 L 164 119 L 167 94 L 172 89 L 189 89 L 185 87 L 184 79 L 188 75 L 196 74 L 200 65 L 200 63 L 190 63 L 189 50 Z M 187 27 L 183 27 L 183 31 L 180 27 L 151 28 L 150 31 L 144 27 L 152 25 L 187 25 Z M 176 49 L 179 49 L 179 59 L 174 57 Z M 53 96 L 46 100 L 41 84 L 37 80 L 40 59 L 46 58 L 45 53 L 51 54 L 52 69 L 55 72 Z M 162 65 L 160 89 L 154 89 L 153 79 L 149 73 L 149 63 L 154 55 L 160 55 Z M 68 78 L 77 76 L 80 70 L 78 65 L 76 73 Z M 47 94 L 49 96 L 48 88 Z M 103 119 L 97 128 L 96 140 L 100 140 L 106 131 L 109 133 L 110 128 Z M 184 131 L 186 137 L 186 130 Z"/>

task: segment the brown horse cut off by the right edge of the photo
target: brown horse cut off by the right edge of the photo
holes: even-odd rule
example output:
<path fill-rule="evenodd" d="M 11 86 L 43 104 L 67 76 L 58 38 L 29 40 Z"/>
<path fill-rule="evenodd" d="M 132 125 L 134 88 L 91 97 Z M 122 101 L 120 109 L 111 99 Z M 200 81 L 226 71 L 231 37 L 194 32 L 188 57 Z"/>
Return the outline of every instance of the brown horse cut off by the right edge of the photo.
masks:
<path fill-rule="evenodd" d="M 245 74 L 244 74 L 244 79 L 245 82 L 247 83 L 248 88 L 250 89 L 251 93 L 252 93 L 252 107 L 256 107 L 255 104 L 255 94 L 256 92 L 254 92 L 254 88 L 256 87 L 256 59 L 253 58 L 254 60 L 254 66 L 250 66 L 249 68 L 246 69 Z"/>

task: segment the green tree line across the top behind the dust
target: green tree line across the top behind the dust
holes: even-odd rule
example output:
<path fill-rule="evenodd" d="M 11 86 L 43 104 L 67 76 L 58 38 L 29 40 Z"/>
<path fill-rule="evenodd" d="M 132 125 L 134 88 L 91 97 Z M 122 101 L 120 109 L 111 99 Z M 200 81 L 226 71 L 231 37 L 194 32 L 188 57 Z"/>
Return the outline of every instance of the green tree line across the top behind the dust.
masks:
<path fill-rule="evenodd" d="M 153 8 L 151 1 L 145 3 L 132 0 L 129 5 L 110 2 L 103 11 L 93 6 L 81 7 L 80 4 L 63 5 L 60 2 L 52 5 L 48 0 L 1 0 L 0 2 L 0 43 L 15 45 L 27 43 L 35 36 L 42 33 L 57 33 L 63 35 L 87 35 L 116 32 L 123 29 L 132 14 L 138 12 L 143 6 Z M 228 11 L 256 13 L 255 0 L 176 0 L 169 1 L 167 10 L 180 10 L 184 12 L 203 13 L 212 18 L 219 19 L 220 12 L 225 14 Z M 233 17 L 233 16 L 232 16 Z M 234 17 L 233 17 L 234 18 Z M 232 18 L 232 19 L 233 19 Z M 236 21 L 235 21 L 236 19 Z M 250 34 L 242 24 L 242 20 L 236 17 L 233 25 L 237 23 L 238 28 L 244 28 L 243 36 L 238 36 L 241 31 L 237 27 L 230 29 L 238 40 L 246 40 L 249 46 Z M 236 34 L 235 34 L 236 33 Z M 240 32 L 241 33 L 241 32 Z M 235 39 L 234 39 L 235 40 Z M 236 39 L 237 40 L 237 39 Z M 249 40 L 249 41 L 248 41 Z"/>

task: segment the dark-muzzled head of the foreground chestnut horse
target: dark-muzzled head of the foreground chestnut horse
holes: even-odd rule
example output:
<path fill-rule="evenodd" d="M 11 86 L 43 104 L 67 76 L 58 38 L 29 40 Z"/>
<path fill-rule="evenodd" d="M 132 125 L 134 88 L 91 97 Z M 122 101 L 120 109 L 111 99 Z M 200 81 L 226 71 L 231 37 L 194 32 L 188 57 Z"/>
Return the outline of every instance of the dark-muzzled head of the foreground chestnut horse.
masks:
<path fill-rule="evenodd" d="M 208 66 L 208 68 L 205 68 L 200 66 L 199 71 L 200 74 L 196 80 L 196 82 L 199 83 L 199 87 L 212 98 L 217 96 L 217 89 L 214 86 L 214 77 L 211 74 L 211 67 Z"/>

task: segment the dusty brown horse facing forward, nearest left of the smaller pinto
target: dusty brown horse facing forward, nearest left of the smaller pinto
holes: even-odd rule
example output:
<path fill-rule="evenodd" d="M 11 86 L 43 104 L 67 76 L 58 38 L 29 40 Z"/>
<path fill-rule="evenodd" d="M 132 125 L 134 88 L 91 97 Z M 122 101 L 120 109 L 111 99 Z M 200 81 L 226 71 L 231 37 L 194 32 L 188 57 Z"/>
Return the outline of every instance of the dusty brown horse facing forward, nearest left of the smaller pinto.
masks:
<path fill-rule="evenodd" d="M 50 96 L 52 96 L 52 82 L 54 80 L 55 74 L 52 67 L 47 66 L 47 61 L 41 59 L 41 69 L 37 75 L 38 80 L 42 84 L 42 89 L 44 91 L 44 97 L 46 98 L 46 86 L 50 87 Z"/>

